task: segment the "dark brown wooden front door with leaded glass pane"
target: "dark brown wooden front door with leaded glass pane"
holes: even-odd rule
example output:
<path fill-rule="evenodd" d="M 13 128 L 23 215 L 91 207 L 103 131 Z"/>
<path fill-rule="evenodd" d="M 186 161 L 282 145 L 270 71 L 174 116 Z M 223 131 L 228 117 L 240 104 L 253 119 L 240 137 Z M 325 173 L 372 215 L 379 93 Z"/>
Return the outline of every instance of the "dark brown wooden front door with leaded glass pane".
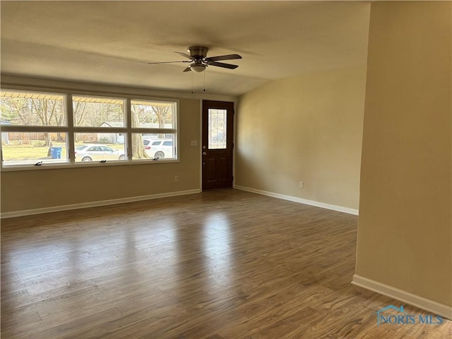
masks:
<path fill-rule="evenodd" d="M 203 191 L 232 187 L 234 102 L 203 100 Z"/>

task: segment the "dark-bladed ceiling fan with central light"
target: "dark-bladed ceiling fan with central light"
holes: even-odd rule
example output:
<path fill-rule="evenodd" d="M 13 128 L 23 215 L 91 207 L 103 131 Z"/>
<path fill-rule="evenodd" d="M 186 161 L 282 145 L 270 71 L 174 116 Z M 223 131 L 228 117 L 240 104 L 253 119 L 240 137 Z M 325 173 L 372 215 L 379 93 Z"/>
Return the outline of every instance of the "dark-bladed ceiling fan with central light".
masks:
<path fill-rule="evenodd" d="M 224 62 L 218 62 L 222 60 L 232 60 L 232 59 L 242 59 L 239 54 L 227 54 L 227 55 L 219 55 L 218 57 L 208 57 L 207 58 L 207 47 L 202 46 L 190 46 L 187 49 L 187 52 L 190 54 L 182 53 L 182 52 L 174 52 L 182 55 L 182 57 L 186 57 L 189 60 L 184 61 L 162 61 L 162 62 L 148 62 L 151 64 L 170 64 L 173 62 L 191 62 L 189 66 L 184 69 L 184 72 L 194 71 L 194 72 L 203 72 L 206 70 L 208 66 L 217 66 L 222 67 L 223 69 L 237 69 L 237 65 L 225 64 Z"/>

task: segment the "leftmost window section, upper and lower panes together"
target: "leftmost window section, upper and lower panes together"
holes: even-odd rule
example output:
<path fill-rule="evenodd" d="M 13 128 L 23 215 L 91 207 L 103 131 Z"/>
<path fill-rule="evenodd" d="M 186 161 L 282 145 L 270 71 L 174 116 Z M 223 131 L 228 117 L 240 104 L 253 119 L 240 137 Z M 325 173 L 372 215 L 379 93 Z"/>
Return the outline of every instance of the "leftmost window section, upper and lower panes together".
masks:
<path fill-rule="evenodd" d="M 2 166 L 68 162 L 64 95 L 2 91 L 0 109 Z"/>

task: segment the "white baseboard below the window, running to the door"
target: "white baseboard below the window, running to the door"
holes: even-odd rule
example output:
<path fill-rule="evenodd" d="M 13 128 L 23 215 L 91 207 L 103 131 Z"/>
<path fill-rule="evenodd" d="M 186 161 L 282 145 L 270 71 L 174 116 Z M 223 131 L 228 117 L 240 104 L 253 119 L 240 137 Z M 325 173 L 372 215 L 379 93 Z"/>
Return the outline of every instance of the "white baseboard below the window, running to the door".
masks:
<path fill-rule="evenodd" d="M 13 212 L 1 213 L 1 218 L 15 218 L 24 215 L 35 215 L 42 213 L 59 212 L 61 210 L 77 210 L 79 208 L 90 208 L 97 206 L 116 205 L 118 203 L 132 203 L 133 201 L 143 201 L 157 198 L 166 198 L 168 196 L 184 196 L 186 194 L 201 193 L 201 189 L 189 189 L 187 191 L 167 192 L 160 194 L 150 194 L 148 196 L 131 196 L 128 198 L 109 199 L 102 201 L 90 201 L 88 203 L 73 203 L 71 205 L 52 206 L 44 208 L 35 208 L 32 210 L 15 210 Z"/>

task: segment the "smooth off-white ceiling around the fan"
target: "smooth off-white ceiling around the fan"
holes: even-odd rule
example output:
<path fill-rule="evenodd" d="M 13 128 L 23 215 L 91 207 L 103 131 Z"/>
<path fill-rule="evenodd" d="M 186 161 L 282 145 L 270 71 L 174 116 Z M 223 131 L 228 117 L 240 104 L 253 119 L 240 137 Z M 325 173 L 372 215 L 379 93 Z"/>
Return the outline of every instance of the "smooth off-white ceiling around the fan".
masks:
<path fill-rule="evenodd" d="M 210 66 L 207 93 L 241 95 L 273 79 L 362 66 L 369 1 L 1 1 L 1 73 L 202 91 L 173 53 L 240 54 Z"/>

